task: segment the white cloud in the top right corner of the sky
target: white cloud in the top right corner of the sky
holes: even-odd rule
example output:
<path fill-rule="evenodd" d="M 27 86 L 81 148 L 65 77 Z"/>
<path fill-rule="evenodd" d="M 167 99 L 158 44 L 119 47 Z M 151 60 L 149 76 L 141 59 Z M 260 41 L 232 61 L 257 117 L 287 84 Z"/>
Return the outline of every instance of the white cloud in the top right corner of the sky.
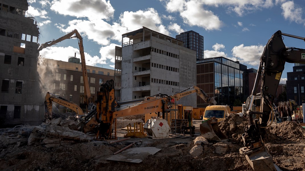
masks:
<path fill-rule="evenodd" d="M 282 15 L 285 20 L 291 20 L 299 24 L 304 23 L 304 19 L 302 19 L 303 9 L 295 7 L 293 1 L 283 3 L 281 8 L 283 9 Z"/>

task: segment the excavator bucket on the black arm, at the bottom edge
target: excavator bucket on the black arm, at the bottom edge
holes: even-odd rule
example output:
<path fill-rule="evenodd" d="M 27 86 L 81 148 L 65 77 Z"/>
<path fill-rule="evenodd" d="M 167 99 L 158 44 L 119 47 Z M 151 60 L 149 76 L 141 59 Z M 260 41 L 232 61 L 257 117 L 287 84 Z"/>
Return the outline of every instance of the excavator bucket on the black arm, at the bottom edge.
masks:
<path fill-rule="evenodd" d="M 249 151 L 248 148 L 243 147 L 239 149 L 239 153 L 246 155 L 246 159 L 254 171 L 282 171 L 273 163 L 272 155 L 266 147 L 255 151 Z"/>

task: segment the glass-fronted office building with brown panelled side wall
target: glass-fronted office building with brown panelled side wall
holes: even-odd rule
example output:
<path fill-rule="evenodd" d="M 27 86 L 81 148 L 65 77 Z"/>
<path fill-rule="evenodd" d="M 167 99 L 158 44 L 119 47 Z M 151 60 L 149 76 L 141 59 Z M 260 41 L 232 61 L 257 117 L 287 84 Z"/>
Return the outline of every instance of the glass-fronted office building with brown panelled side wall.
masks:
<path fill-rule="evenodd" d="M 249 96 L 247 66 L 224 57 L 197 60 L 197 86 L 209 97 L 216 96 L 217 105 L 233 105 Z M 197 107 L 204 102 L 197 98 Z"/>

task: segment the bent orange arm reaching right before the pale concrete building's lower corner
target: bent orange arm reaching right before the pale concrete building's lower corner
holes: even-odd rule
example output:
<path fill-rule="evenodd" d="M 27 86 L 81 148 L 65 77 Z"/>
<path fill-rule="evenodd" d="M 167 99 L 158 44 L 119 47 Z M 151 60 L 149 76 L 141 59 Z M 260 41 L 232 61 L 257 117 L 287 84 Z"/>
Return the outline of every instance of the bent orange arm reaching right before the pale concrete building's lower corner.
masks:
<path fill-rule="evenodd" d="M 190 90 L 190 89 L 192 89 L 192 90 Z M 216 101 L 214 99 L 215 97 L 209 98 L 209 96 L 201 88 L 196 87 L 196 86 L 189 87 L 183 91 L 177 92 L 174 95 L 172 95 L 172 98 L 174 98 L 175 100 L 179 100 L 180 98 L 187 96 L 189 94 L 192 94 L 192 93 L 196 93 L 206 103 L 209 103 L 210 105 L 216 105 Z"/>

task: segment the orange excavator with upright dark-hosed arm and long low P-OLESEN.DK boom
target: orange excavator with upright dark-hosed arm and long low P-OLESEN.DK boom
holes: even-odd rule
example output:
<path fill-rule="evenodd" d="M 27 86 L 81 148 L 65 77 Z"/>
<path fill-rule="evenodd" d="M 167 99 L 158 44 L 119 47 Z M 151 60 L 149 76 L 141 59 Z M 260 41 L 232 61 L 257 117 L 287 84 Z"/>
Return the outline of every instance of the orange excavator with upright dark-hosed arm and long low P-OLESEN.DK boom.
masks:
<path fill-rule="evenodd" d="M 97 137 L 105 139 L 116 138 L 116 131 L 114 136 L 112 136 L 112 125 L 114 124 L 116 129 L 116 119 L 118 117 L 162 112 L 162 118 L 165 118 L 166 113 L 170 111 L 175 101 L 192 93 L 196 93 L 209 104 L 215 105 L 216 103 L 214 97 L 209 98 L 203 90 L 194 86 L 177 92 L 172 96 L 157 94 L 142 98 L 142 102 L 115 109 L 118 103 L 114 100 L 113 84 L 113 80 L 108 80 L 106 83 L 101 84 L 100 91 L 97 92 L 97 107 L 77 124 L 77 127 L 80 127 L 80 131 L 87 133 L 97 127 Z"/>

